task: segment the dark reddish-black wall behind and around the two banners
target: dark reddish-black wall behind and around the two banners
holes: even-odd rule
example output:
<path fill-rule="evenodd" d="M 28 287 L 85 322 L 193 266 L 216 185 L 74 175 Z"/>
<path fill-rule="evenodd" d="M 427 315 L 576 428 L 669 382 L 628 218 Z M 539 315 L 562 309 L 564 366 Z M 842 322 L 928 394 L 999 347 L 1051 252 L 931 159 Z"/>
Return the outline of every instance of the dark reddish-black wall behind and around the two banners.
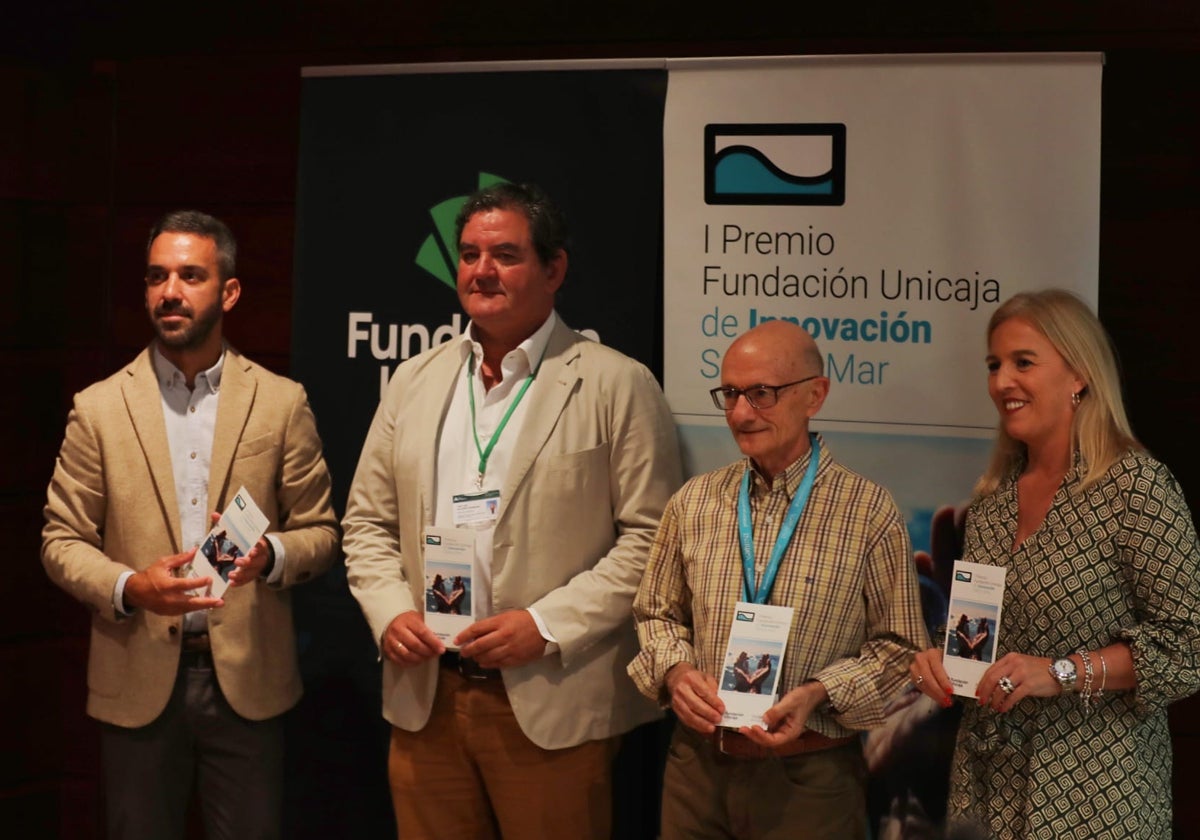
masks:
<path fill-rule="evenodd" d="M 85 611 L 38 562 L 44 488 L 71 395 L 150 336 L 145 230 L 181 205 L 230 223 L 245 294 L 227 326 L 287 372 L 300 67 L 496 59 L 1100 50 L 1100 316 L 1120 350 L 1135 431 L 1195 508 L 1200 316 L 1200 6 L 1018 4 L 500 4 L 229 0 L 166 8 L 50 0 L 0 6 L 0 826 L 6 836 L 101 834 L 97 737 L 84 715 Z M 965 7 L 967 6 L 967 7 Z M 486 132 L 496 102 L 446 131 Z M 552 109 L 527 107 L 552 125 Z M 904 126 L 898 126 L 902 131 Z M 980 197 L 979 200 L 986 200 Z M 1013 242 L 1014 248 L 1021 247 Z M 319 420 L 319 419 L 318 419 Z M 336 588 L 336 576 L 329 586 Z M 354 630 L 348 630 L 353 632 Z M 301 721 L 324 736 L 377 725 L 361 686 L 325 684 Z M 1177 836 L 1200 836 L 1200 701 L 1172 708 Z M 380 754 L 382 755 L 382 754 Z M 337 762 L 313 761 L 319 790 Z M 379 760 L 368 755 L 367 763 Z M 331 763 L 332 762 L 332 763 Z M 305 764 L 307 767 L 308 764 Z M 382 763 L 379 764 L 382 773 Z M 300 770 L 301 775 L 304 769 Z M 379 779 L 382 785 L 382 779 Z M 301 800 L 293 836 L 365 836 L 386 802 Z M 294 796 L 293 791 L 293 796 Z M 373 810 L 374 809 L 374 810 Z M 383 809 L 383 811 L 379 811 Z M 350 822 L 347 822 L 350 821 Z M 385 834 L 382 834 L 385 836 Z"/>

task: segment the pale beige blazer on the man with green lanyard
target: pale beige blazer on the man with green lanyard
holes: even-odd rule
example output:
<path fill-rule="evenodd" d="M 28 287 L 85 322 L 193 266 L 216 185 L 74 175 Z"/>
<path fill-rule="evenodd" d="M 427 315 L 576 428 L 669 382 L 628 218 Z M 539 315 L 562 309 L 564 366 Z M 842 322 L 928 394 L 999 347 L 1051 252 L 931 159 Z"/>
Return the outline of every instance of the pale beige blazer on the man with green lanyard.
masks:
<path fill-rule="evenodd" d="M 438 432 L 461 371 L 457 342 L 402 364 L 376 412 L 347 502 L 346 565 L 378 644 L 424 611 L 421 535 L 433 522 Z M 659 710 L 625 676 L 631 604 L 659 517 L 679 486 L 674 424 L 649 371 L 559 322 L 530 390 L 496 523 L 492 610 L 534 607 L 560 650 L 506 668 L 521 728 L 559 749 Z M 422 728 L 438 666 L 383 661 L 383 713 Z"/>

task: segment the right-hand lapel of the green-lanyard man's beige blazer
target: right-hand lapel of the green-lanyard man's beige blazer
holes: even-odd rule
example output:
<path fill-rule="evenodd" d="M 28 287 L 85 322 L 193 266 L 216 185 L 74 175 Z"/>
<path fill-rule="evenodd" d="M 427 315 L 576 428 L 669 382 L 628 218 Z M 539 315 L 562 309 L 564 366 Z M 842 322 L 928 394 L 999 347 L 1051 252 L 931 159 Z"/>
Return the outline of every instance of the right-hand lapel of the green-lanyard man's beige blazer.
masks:
<path fill-rule="evenodd" d="M 562 320 L 554 325 L 538 371 L 538 385 L 530 395 L 529 409 L 512 450 L 512 462 L 504 484 L 505 504 L 500 506 L 502 520 L 511 506 L 517 487 L 529 474 L 538 454 L 558 425 L 558 418 L 580 379 L 578 366 L 575 364 L 580 358 L 577 340 L 578 336 Z"/>

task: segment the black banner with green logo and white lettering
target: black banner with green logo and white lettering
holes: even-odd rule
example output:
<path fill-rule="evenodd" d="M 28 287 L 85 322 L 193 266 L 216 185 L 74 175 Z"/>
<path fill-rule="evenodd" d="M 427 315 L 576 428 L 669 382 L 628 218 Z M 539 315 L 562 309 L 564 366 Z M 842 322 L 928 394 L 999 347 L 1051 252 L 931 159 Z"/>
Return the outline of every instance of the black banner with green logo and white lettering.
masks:
<path fill-rule="evenodd" d="M 665 97 L 661 68 L 304 80 L 292 372 L 338 512 L 385 377 L 466 328 L 452 223 L 488 182 L 535 182 L 563 208 L 559 314 L 661 377 Z M 344 568 L 294 593 L 306 695 L 289 719 L 286 835 L 394 836 L 379 665 Z M 654 734 L 632 749 L 653 755 Z M 638 775 L 618 779 L 614 835 L 653 836 L 660 774 L 623 763 Z"/>

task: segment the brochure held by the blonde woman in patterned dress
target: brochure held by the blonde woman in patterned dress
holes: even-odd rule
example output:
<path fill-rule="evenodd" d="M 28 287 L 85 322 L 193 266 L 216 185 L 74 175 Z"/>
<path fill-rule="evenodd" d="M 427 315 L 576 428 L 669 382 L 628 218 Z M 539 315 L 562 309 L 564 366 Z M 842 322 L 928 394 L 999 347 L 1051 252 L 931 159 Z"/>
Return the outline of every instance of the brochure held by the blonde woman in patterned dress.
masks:
<path fill-rule="evenodd" d="M 956 695 L 974 697 L 979 679 L 996 661 L 1007 571 L 1003 566 L 954 563 L 942 662 Z"/>

